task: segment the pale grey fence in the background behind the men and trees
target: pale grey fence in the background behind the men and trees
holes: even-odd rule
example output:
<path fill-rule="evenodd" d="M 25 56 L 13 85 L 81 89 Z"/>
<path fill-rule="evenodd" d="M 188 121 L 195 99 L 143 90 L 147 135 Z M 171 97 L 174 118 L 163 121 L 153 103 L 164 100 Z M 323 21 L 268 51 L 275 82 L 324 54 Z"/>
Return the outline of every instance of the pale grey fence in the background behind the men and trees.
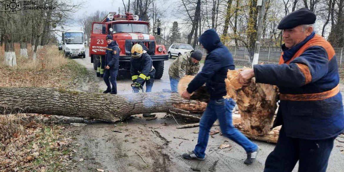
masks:
<path fill-rule="evenodd" d="M 166 49 L 170 47 L 170 45 L 165 45 Z M 232 53 L 233 58 L 249 60 L 248 50 L 244 46 L 229 46 L 229 51 Z M 343 51 L 344 47 L 342 48 L 334 48 L 337 58 L 338 67 L 343 66 Z M 206 55 L 206 51 L 202 48 L 201 45 L 196 45 L 195 50 L 201 50 L 203 55 Z M 272 62 L 278 63 L 280 56 L 281 56 L 282 49 L 281 47 L 260 47 L 259 50 L 259 62 Z"/>

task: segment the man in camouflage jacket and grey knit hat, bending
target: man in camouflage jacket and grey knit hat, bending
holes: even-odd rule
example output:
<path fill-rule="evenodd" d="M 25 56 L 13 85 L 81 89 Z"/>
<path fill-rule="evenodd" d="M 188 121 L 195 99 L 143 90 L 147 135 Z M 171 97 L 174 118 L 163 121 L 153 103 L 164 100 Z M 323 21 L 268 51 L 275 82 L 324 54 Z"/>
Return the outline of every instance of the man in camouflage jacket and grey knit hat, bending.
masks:
<path fill-rule="evenodd" d="M 196 75 L 200 71 L 200 61 L 203 53 L 200 50 L 192 50 L 177 57 L 169 68 L 171 90 L 178 92 L 179 79 L 185 75 Z"/>

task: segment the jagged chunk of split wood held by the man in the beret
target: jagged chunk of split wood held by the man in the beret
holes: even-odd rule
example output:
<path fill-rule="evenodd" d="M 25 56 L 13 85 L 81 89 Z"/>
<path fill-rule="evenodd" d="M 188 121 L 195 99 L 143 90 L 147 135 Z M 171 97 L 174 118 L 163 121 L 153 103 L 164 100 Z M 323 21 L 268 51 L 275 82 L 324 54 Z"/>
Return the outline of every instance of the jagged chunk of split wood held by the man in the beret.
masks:
<path fill-rule="evenodd" d="M 255 78 L 248 86 L 243 86 L 238 81 L 238 72 L 242 70 L 245 69 L 228 70 L 225 98 L 236 101 L 241 119 L 252 135 L 266 135 L 270 132 L 277 108 L 277 87 L 255 83 Z"/>

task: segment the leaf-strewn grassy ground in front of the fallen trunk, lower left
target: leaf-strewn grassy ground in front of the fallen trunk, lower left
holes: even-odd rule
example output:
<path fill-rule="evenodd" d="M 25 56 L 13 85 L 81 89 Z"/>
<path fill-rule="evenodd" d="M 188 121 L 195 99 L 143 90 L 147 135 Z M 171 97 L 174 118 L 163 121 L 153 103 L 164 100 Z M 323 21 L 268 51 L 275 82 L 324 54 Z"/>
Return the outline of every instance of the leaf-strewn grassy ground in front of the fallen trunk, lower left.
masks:
<path fill-rule="evenodd" d="M 26 114 L 0 116 L 0 171 L 67 171 L 73 152 L 64 127 L 31 119 Z"/>

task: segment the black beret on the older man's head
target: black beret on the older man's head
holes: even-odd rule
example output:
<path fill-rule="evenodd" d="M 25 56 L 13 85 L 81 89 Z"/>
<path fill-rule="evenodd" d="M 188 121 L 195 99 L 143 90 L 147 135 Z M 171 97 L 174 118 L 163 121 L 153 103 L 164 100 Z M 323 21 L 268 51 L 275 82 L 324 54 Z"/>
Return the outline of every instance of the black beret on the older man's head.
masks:
<path fill-rule="evenodd" d="M 286 15 L 278 24 L 277 29 L 291 29 L 302 24 L 314 24 L 315 20 L 316 16 L 311 10 L 301 8 Z"/>

